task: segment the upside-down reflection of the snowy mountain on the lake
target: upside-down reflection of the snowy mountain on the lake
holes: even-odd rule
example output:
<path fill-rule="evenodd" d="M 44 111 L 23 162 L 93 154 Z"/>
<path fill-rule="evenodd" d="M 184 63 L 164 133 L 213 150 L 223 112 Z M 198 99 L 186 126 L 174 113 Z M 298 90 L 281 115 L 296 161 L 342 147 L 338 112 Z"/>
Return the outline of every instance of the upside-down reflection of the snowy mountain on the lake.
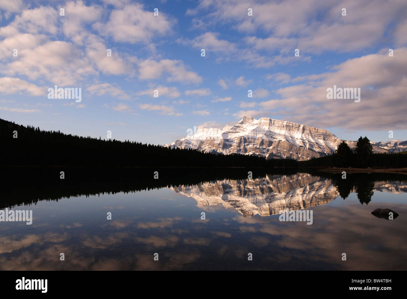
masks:
<path fill-rule="evenodd" d="M 236 208 L 244 217 L 270 216 L 281 210 L 300 210 L 328 204 L 338 196 L 346 199 L 356 193 L 361 204 L 371 201 L 373 191 L 407 192 L 407 184 L 372 182 L 359 178 L 354 184 L 333 182 L 332 179 L 309 173 L 266 175 L 258 179 L 229 180 L 193 186 L 171 187 L 175 192 L 192 197 L 198 206 L 222 204 Z M 341 192 L 340 192 L 341 191 Z"/>

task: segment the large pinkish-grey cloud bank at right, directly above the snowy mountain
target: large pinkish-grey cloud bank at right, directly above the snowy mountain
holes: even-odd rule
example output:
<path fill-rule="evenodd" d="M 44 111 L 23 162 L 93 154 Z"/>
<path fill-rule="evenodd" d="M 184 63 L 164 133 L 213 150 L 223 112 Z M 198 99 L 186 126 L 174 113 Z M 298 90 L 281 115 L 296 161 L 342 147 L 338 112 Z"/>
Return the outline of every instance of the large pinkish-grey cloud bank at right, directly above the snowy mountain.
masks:
<path fill-rule="evenodd" d="M 319 128 L 407 129 L 407 48 L 395 49 L 394 57 L 388 56 L 387 49 L 379 52 L 347 60 L 327 73 L 302 76 L 304 84 L 278 89 L 281 99 L 259 105 L 293 122 Z M 328 100 L 326 89 L 334 85 L 360 88 L 360 102 Z"/>

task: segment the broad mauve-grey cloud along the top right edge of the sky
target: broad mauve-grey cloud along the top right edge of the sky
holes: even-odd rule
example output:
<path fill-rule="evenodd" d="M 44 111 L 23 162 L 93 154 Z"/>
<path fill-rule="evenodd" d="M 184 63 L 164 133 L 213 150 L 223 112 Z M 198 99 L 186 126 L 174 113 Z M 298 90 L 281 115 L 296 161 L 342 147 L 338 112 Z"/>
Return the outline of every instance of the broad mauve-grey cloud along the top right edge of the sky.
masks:
<path fill-rule="evenodd" d="M 247 7 L 253 17 L 247 17 Z M 341 9 L 347 16 L 341 16 Z M 255 0 L 201 0 L 188 15 L 206 13 L 200 22 L 222 24 L 241 32 L 262 31 L 267 38 L 249 37 L 253 49 L 289 51 L 294 45 L 309 53 L 322 51 L 347 52 L 383 44 L 387 35 L 403 40 L 403 26 L 394 31 L 392 25 L 404 22 L 405 1 L 389 0 L 284 0 L 280 2 Z M 243 13 L 246 12 L 246 13 Z M 355 30 L 357 28 L 357 30 Z M 405 31 L 404 31 L 405 32 Z M 399 43 L 399 45 L 405 45 Z M 291 53 L 290 53 L 291 55 Z"/>

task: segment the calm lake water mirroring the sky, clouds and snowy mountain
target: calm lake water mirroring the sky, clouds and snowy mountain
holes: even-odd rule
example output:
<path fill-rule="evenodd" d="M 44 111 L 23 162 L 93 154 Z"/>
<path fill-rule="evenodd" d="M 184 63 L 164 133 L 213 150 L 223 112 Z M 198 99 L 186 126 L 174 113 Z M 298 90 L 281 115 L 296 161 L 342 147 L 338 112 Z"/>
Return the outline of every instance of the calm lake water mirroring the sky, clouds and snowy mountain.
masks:
<path fill-rule="evenodd" d="M 273 173 L 95 195 L 72 185 L 69 197 L 31 186 L 30 200 L 2 204 L 33 223 L 0 222 L 0 269 L 407 270 L 403 178 Z M 312 224 L 280 221 L 287 208 L 312 211 Z"/>

